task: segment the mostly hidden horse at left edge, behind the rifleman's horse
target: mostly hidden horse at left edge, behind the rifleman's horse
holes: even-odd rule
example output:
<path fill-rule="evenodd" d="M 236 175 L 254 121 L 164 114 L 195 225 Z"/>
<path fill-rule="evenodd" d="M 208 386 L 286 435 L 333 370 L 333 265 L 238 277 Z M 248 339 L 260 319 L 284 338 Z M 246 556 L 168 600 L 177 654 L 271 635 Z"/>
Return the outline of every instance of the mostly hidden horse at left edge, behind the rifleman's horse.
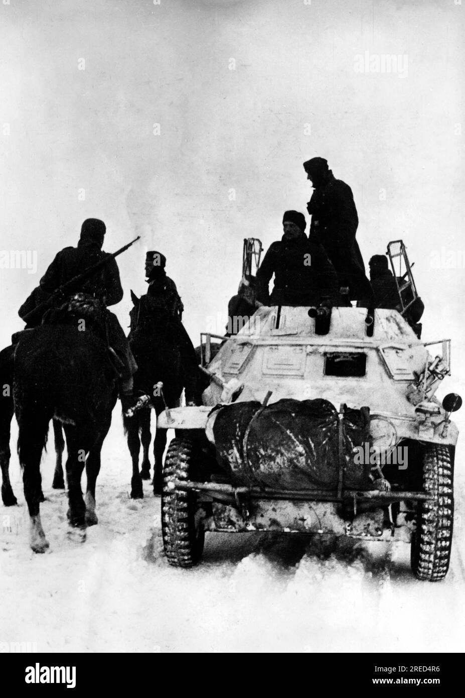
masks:
<path fill-rule="evenodd" d="M 13 403 L 13 373 L 15 345 L 10 345 L 0 351 L 0 468 L 1 468 L 1 500 L 3 505 L 11 507 L 17 504 L 10 483 L 10 436 L 11 420 L 15 413 Z M 63 477 L 63 450 L 65 441 L 60 422 L 52 419 L 55 441 L 55 470 L 52 482 L 53 489 L 65 489 Z M 43 501 L 43 496 L 41 498 Z"/>

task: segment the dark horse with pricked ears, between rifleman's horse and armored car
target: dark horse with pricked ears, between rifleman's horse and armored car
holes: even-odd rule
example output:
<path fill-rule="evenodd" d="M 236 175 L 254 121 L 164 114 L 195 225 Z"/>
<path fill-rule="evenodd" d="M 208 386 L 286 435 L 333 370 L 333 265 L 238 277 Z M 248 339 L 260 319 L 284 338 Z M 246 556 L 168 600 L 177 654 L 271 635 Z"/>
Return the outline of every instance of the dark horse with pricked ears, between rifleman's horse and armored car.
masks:
<path fill-rule="evenodd" d="M 195 385 L 198 381 L 194 348 L 180 320 L 172 318 L 162 305 L 156 305 L 151 297 L 140 298 L 131 290 L 133 308 L 130 311 L 132 354 L 137 362 L 134 375 L 134 394 L 150 397 L 148 407 L 158 417 L 168 407 L 179 406 L 183 388 L 186 399 L 198 401 Z M 162 393 L 158 383 L 163 384 Z M 195 384 L 195 385 L 194 385 Z M 189 392 L 189 394 L 188 394 Z M 151 413 L 148 408 L 137 411 L 132 417 L 123 415 L 123 425 L 132 459 L 131 497 L 144 496 L 142 480 L 150 480 L 151 463 L 148 450 L 151 444 Z M 139 473 L 139 452 L 142 443 L 142 466 Z M 153 492 L 162 491 L 162 458 L 167 443 L 167 430 L 156 429 L 153 440 Z"/>

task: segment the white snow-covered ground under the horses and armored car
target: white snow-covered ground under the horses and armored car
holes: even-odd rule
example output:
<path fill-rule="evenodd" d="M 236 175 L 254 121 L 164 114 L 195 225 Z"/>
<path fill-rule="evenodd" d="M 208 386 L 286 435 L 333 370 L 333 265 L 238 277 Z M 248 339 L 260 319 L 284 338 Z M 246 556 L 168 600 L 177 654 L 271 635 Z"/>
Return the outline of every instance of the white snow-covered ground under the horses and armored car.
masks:
<path fill-rule="evenodd" d="M 13 432 L 14 445 L 16 431 Z M 0 643 L 38 651 L 464 651 L 465 480 L 457 463 L 452 565 L 416 581 L 409 546 L 268 534 L 208 534 L 204 561 L 169 567 L 160 498 L 129 498 L 130 458 L 115 409 L 97 484 L 99 524 L 67 537 L 66 494 L 43 459 L 45 555 L 28 544 L 17 457 L 17 507 L 0 505 Z M 83 478 L 83 484 L 84 484 Z M 3 645 L 5 647 L 5 645 Z"/>

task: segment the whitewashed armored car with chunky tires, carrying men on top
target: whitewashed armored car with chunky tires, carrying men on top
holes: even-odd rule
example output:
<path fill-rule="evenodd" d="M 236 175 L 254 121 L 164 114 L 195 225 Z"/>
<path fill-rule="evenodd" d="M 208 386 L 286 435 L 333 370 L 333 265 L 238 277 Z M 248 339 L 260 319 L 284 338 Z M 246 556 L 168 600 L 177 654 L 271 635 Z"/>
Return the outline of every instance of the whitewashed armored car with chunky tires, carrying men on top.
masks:
<path fill-rule="evenodd" d="M 404 279 L 412 288 L 410 267 Z M 399 311 L 261 307 L 213 358 L 204 334 L 204 405 L 158 418 L 176 429 L 162 494 L 171 565 L 199 562 L 205 531 L 273 530 L 411 542 L 416 577 L 445 577 L 462 401 L 434 397 L 450 341 L 418 339 L 402 291 Z"/>

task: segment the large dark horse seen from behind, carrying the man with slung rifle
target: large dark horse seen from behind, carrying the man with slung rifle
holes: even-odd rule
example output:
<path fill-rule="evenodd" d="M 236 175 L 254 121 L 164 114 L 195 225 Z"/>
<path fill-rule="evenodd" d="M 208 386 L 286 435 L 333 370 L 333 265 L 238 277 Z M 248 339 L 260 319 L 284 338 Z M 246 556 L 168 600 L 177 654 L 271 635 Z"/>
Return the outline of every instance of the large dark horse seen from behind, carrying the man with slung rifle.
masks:
<path fill-rule="evenodd" d="M 68 521 L 85 540 L 86 526 L 98 523 L 96 480 L 100 451 L 116 403 L 117 373 L 105 341 L 73 323 L 40 325 L 20 336 L 15 350 L 13 399 L 19 427 L 18 455 L 24 497 L 36 553 L 49 547 L 40 522 L 40 459 L 50 419 L 63 424 L 68 459 Z M 86 468 L 86 500 L 81 477 Z M 76 532 L 76 531 L 75 531 Z"/>

